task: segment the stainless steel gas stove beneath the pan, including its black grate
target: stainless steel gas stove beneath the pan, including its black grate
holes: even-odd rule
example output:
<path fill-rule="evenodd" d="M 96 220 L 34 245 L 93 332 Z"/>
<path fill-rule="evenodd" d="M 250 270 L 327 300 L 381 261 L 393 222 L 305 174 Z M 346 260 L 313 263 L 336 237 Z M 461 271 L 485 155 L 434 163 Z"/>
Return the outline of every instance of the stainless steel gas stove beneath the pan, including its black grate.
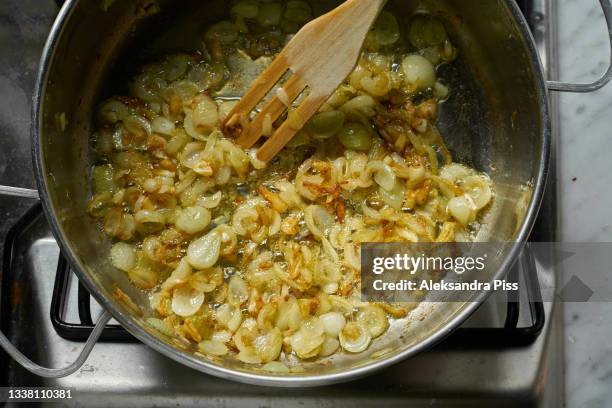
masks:
<path fill-rule="evenodd" d="M 519 4 L 548 77 L 554 79 L 557 2 L 524 0 Z M 0 37 L 15 36 L 25 47 L 0 42 L 0 55 L 7 60 L 0 61 L 0 87 L 15 83 L 20 87 L 13 90 L 15 95 L 31 93 L 38 55 L 55 13 L 51 0 L 5 0 L 0 6 Z M 18 49 L 26 52 L 8 62 Z M 9 99 L 3 103 L 10 104 Z M 32 186 L 29 112 L 18 112 L 15 119 L 5 116 L 10 112 L 5 108 L 10 106 L 3 106 L 0 116 L 0 129 L 8 130 L 8 137 L 0 139 L 0 184 Z M 552 120 L 556 142 L 558 105 L 554 97 Z M 553 166 L 553 181 L 554 173 Z M 550 183 L 531 240 L 555 241 L 555 198 L 554 183 Z M 32 205 L 0 198 L 4 220 L 0 238 L 5 237 L 0 255 L 0 323 L 13 344 L 34 361 L 64 366 L 78 354 L 101 309 L 61 256 L 40 205 Z M 528 294 L 537 292 L 540 282 L 554 285 L 555 270 L 539 262 L 535 267 L 518 263 L 511 276 L 520 283 L 518 299 L 492 299 L 430 351 L 346 384 L 278 389 L 221 380 L 167 359 L 111 322 L 86 364 L 67 378 L 35 377 L 0 354 L 0 386 L 69 388 L 70 404 L 87 406 L 560 407 L 560 308 L 555 303 L 527 300 L 534 298 Z"/>

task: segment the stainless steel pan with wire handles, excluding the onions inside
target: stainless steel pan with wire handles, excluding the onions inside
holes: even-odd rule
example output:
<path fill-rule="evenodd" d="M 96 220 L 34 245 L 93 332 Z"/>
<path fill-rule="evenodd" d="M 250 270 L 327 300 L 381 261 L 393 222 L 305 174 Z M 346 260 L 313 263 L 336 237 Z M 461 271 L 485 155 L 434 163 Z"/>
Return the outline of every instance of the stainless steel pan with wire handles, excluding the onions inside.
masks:
<path fill-rule="evenodd" d="M 330 3 L 326 0 L 315 0 Z M 227 2 L 160 0 L 160 12 L 149 15 L 151 1 L 116 1 L 102 11 L 99 1 L 68 0 L 47 41 L 34 95 L 32 115 L 33 160 L 38 192 L 0 188 L 0 193 L 40 196 L 55 238 L 73 270 L 98 302 L 135 337 L 184 365 L 219 377 L 252 384 L 303 386 L 331 384 L 365 376 L 431 347 L 458 327 L 488 295 L 468 303 L 423 303 L 413 316 L 395 324 L 366 352 L 338 355 L 332 364 L 306 363 L 303 373 L 273 376 L 237 361 L 214 363 L 188 353 L 151 331 L 125 303 L 113 296 L 115 285 L 145 307 L 147 299 L 111 267 L 110 244 L 85 213 L 90 195 L 89 140 L 92 112 L 104 94 L 112 67 L 125 60 L 126 50 L 146 45 L 164 27 L 182 19 L 217 20 L 228 13 Z M 601 0 L 612 27 L 612 6 Z M 327 5 L 329 6 L 329 5 Z M 391 1 L 404 19 L 419 7 L 441 16 L 461 57 L 443 77 L 453 97 L 442 110 L 440 128 L 459 161 L 487 171 L 495 183 L 495 204 L 487 216 L 481 239 L 520 242 L 527 239 L 546 184 L 551 146 L 548 90 L 590 92 L 604 86 L 612 69 L 588 85 L 547 82 L 527 23 L 514 0 Z M 203 11 L 203 12 L 202 12 Z M 160 29 L 161 27 L 161 29 Z M 151 35 L 150 33 L 154 33 Z M 612 35 L 612 33 L 611 33 Z M 533 192 L 524 213 L 515 217 L 516 203 L 530 184 Z M 516 247 L 505 246 L 490 259 L 489 278 L 499 278 L 516 257 Z M 109 315 L 100 318 L 99 325 Z M 32 365 L 8 344 L 5 348 L 31 371 L 45 376 L 67 375 L 82 364 L 97 339 L 94 331 L 81 359 L 56 371 Z M 382 356 L 373 353 L 388 350 Z M 379 353 L 380 354 L 380 353 Z M 376 354 L 375 354 L 376 355 Z"/>

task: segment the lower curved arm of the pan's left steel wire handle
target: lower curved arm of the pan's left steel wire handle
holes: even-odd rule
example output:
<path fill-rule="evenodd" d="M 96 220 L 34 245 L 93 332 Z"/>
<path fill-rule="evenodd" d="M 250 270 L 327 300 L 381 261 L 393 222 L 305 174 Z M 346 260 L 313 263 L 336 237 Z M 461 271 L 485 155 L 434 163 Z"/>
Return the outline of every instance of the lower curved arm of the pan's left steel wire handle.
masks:
<path fill-rule="evenodd" d="M 104 312 L 102 316 L 98 319 L 96 323 L 96 327 L 91 331 L 89 338 L 83 345 L 79 356 L 72 362 L 72 364 L 63 367 L 63 368 L 47 368 L 39 366 L 34 363 L 32 360 L 23 355 L 13 344 L 11 344 L 10 340 L 4 335 L 4 333 L 0 332 L 0 347 L 4 349 L 13 359 L 23 368 L 31 372 L 32 374 L 38 375 L 40 377 L 45 378 L 62 378 L 67 377 L 70 374 L 77 371 L 79 368 L 85 364 L 85 360 L 89 357 L 93 346 L 100 338 L 102 334 L 102 330 L 106 326 L 106 323 L 110 320 L 111 315 L 108 312 Z"/>

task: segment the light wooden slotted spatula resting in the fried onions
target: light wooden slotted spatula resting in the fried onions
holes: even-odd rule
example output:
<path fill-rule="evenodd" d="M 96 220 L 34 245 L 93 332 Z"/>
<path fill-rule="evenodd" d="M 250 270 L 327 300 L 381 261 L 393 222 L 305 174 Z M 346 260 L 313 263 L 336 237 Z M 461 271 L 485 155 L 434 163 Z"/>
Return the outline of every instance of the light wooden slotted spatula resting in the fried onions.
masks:
<path fill-rule="evenodd" d="M 306 88 L 308 96 L 257 151 L 257 158 L 270 161 L 306 124 L 351 73 L 365 37 L 386 0 L 347 0 L 329 13 L 306 24 L 255 80 L 232 109 L 224 127 L 241 128 L 237 143 L 252 147 Z M 287 70 L 291 76 L 252 120 L 249 114 Z M 279 97 L 280 95 L 280 97 Z M 233 133 L 233 132 L 232 132 Z"/>

